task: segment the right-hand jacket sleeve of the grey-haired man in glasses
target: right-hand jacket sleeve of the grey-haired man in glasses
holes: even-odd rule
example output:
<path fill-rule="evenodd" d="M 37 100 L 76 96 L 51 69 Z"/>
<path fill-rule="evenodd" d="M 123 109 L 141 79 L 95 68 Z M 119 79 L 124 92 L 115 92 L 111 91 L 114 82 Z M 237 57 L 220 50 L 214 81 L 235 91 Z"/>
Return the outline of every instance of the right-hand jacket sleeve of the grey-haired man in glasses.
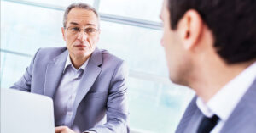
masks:
<path fill-rule="evenodd" d="M 96 125 L 87 131 L 96 133 L 129 133 L 128 121 L 128 103 L 126 86 L 127 69 L 125 63 L 121 61 L 110 82 L 108 103 L 107 103 L 107 123 Z M 86 132 L 86 131 L 85 131 Z"/>

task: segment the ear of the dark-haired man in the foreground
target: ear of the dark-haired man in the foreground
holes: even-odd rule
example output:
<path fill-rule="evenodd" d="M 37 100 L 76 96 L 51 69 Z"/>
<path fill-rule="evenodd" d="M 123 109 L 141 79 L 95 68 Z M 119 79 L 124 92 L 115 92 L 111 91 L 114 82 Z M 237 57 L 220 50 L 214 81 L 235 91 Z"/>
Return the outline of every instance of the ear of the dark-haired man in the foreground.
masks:
<path fill-rule="evenodd" d="M 201 39 L 203 28 L 201 15 L 194 9 L 188 10 L 180 19 L 177 28 L 183 41 L 183 47 L 187 50 L 196 47 L 197 42 Z"/>

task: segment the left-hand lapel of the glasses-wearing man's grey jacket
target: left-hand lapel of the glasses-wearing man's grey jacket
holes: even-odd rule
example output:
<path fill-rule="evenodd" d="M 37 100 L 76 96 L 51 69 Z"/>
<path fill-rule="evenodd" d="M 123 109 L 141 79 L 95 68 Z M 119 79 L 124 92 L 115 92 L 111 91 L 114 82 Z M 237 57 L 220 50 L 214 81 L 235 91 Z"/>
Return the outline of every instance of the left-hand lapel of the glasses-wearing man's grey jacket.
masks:
<path fill-rule="evenodd" d="M 44 95 L 53 97 L 55 90 L 61 80 L 61 75 L 65 67 L 68 51 L 64 51 L 59 56 L 49 62 L 45 74 Z"/>

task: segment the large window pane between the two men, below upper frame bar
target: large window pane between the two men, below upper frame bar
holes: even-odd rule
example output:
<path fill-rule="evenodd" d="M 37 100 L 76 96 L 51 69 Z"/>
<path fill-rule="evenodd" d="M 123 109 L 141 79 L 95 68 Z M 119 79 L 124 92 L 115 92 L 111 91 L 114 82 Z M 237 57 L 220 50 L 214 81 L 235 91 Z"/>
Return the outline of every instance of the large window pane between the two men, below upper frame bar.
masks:
<path fill-rule="evenodd" d="M 132 70 L 154 75 L 167 75 L 166 58 L 160 47 L 160 30 L 101 22 L 99 47 L 125 59 Z"/>

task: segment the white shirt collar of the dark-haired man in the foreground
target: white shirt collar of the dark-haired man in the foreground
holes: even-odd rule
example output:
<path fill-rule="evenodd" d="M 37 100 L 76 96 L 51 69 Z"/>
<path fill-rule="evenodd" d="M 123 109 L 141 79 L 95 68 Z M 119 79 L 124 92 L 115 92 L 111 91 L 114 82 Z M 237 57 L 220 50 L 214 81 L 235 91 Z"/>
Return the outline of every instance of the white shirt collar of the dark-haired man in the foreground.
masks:
<path fill-rule="evenodd" d="M 226 121 L 241 100 L 241 97 L 253 84 L 255 78 L 256 62 L 243 70 L 233 80 L 230 80 L 207 104 L 203 102 L 201 97 L 198 97 L 196 99 L 197 107 L 207 117 L 212 117 L 213 114 L 216 114 L 221 120 Z"/>

